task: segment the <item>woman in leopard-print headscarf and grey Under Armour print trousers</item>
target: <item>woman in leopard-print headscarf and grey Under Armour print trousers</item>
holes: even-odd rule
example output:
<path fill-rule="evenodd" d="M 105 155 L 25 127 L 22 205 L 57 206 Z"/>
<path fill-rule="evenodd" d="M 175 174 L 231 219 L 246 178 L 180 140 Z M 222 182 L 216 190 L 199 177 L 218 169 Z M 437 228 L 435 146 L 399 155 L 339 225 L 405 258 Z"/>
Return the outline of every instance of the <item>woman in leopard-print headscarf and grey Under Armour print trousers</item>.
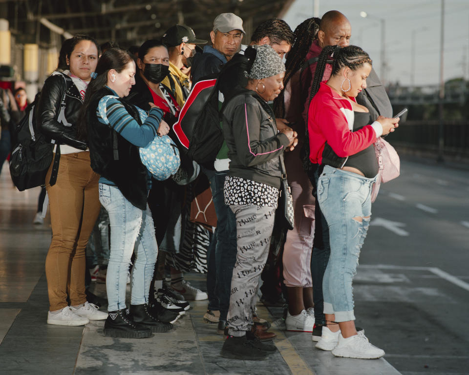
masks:
<path fill-rule="evenodd" d="M 252 332 L 259 276 L 269 252 L 280 188 L 283 151 L 293 149 L 297 133 L 277 131 L 267 104 L 283 88 L 285 65 L 269 45 L 245 51 L 248 81 L 222 110 L 223 133 L 230 171 L 225 179 L 225 204 L 236 216 L 236 264 L 231 282 L 228 337 L 221 355 L 235 359 L 265 359 L 276 347 Z"/>

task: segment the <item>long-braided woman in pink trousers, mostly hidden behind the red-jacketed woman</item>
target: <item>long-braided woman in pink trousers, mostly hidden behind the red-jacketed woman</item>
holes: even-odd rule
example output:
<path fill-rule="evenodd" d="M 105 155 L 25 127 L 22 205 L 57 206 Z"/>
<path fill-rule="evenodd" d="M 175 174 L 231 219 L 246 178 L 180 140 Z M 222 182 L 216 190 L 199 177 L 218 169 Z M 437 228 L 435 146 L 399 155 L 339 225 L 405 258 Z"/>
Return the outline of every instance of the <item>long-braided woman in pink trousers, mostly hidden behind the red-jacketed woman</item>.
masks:
<path fill-rule="evenodd" d="M 285 324 L 288 331 L 313 332 L 314 302 L 311 277 L 311 251 L 314 239 L 314 205 L 312 185 L 301 165 L 301 147 L 305 139 L 305 125 L 301 113 L 301 85 L 299 82 L 304 59 L 319 30 L 320 19 L 303 21 L 294 32 L 294 42 L 285 62 L 285 89 L 274 102 L 276 116 L 285 118 L 298 132 L 298 146 L 286 152 L 285 169 L 295 209 L 295 227 L 287 231 L 283 250 L 283 277 L 288 293 Z M 320 335 L 320 333 L 319 333 Z"/>

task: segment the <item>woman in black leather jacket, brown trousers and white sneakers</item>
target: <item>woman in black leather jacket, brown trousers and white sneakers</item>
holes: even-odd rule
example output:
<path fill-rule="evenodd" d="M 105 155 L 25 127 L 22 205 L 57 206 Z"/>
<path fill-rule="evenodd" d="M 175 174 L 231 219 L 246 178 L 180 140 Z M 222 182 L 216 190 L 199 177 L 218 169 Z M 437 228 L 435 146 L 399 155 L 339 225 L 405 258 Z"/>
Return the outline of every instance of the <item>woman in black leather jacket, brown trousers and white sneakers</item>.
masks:
<path fill-rule="evenodd" d="M 56 71 L 45 81 L 37 119 L 39 129 L 56 145 L 45 178 L 52 226 L 45 261 L 50 304 L 47 323 L 78 326 L 107 317 L 86 301 L 85 247 L 100 209 L 99 175 L 90 167 L 87 146 L 77 138 L 79 112 L 99 47 L 87 36 L 65 43 L 68 70 Z"/>

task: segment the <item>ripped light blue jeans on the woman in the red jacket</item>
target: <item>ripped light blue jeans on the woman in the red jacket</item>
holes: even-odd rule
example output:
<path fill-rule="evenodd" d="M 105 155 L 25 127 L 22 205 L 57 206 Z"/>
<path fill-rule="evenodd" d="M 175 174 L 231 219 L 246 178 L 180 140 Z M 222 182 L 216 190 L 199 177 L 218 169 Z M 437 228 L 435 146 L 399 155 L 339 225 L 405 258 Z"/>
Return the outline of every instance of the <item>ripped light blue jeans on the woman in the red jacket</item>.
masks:
<path fill-rule="evenodd" d="M 324 313 L 337 322 L 355 320 L 352 279 L 371 216 L 376 177 L 325 166 L 318 180 L 318 201 L 329 227 L 331 255 L 322 280 Z"/>

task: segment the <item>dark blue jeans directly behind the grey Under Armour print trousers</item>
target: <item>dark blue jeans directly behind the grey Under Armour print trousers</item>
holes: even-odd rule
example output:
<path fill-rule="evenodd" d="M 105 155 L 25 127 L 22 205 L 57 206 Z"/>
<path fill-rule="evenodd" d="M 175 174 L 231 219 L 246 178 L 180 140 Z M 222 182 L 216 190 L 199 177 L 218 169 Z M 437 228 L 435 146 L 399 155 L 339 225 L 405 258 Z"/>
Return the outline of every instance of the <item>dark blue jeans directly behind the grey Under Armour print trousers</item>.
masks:
<path fill-rule="evenodd" d="M 207 292 L 209 309 L 220 310 L 220 320 L 226 320 L 228 314 L 231 278 L 236 263 L 236 217 L 225 205 L 225 177 L 226 172 L 216 172 L 209 180 L 217 222 L 207 255 Z"/>

